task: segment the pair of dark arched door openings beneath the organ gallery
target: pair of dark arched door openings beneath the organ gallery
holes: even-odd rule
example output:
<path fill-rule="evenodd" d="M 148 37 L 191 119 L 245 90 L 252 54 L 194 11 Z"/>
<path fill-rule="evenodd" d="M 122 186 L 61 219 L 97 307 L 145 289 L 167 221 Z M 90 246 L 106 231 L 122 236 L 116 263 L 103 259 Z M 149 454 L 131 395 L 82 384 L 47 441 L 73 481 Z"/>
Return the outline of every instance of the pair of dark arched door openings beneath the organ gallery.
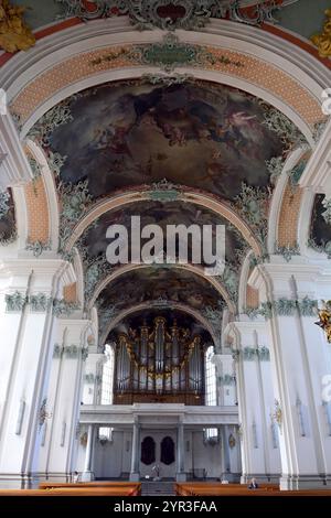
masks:
<path fill-rule="evenodd" d="M 177 433 L 171 430 L 141 434 L 140 476 L 142 478 L 175 478 Z"/>

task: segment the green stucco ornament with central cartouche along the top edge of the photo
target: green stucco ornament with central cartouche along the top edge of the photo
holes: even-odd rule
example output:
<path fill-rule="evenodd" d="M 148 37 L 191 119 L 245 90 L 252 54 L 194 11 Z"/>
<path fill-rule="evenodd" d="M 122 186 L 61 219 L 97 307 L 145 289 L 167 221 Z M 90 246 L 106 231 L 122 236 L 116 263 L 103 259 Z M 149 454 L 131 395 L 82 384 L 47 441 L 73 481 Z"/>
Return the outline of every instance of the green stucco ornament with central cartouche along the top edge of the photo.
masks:
<path fill-rule="evenodd" d="M 129 15 L 139 29 L 199 29 L 210 20 L 229 19 L 250 25 L 276 22 L 277 10 L 298 0 L 57 0 L 63 17 L 84 20 Z"/>

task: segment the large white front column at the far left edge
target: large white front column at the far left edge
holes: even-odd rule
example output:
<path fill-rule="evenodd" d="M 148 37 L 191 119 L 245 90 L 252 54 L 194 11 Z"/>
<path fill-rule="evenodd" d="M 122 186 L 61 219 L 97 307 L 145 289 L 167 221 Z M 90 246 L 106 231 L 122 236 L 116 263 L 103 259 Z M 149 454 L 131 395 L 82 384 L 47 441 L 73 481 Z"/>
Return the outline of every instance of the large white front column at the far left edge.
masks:
<path fill-rule="evenodd" d="M 57 259 L 0 265 L 0 335 L 6 343 L 0 358 L 0 478 L 11 487 L 29 485 L 38 475 L 52 357 L 52 300 L 66 269 L 68 265 Z"/>

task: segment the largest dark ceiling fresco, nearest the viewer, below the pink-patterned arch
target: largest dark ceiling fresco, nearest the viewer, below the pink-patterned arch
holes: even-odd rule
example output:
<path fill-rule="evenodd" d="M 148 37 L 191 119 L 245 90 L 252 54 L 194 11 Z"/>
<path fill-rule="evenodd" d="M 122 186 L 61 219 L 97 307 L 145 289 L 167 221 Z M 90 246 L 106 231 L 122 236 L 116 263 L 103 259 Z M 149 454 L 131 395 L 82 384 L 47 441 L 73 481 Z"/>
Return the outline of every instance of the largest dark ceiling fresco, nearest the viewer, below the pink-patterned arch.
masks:
<path fill-rule="evenodd" d="M 266 161 L 284 153 L 265 123 L 268 107 L 224 85 L 111 83 L 63 109 L 65 123 L 47 139 L 65 158 L 60 179 L 87 180 L 94 198 L 166 177 L 232 199 L 242 182 L 268 185 Z"/>

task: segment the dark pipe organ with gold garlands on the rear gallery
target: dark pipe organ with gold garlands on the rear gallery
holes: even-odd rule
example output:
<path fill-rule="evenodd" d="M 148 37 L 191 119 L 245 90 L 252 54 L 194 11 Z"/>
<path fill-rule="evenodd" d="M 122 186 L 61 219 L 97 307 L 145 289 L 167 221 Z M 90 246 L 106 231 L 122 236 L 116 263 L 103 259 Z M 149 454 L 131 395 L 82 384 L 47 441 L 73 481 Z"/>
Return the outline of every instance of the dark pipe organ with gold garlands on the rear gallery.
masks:
<path fill-rule="evenodd" d="M 114 402 L 204 403 L 204 344 L 163 316 L 116 339 Z"/>

